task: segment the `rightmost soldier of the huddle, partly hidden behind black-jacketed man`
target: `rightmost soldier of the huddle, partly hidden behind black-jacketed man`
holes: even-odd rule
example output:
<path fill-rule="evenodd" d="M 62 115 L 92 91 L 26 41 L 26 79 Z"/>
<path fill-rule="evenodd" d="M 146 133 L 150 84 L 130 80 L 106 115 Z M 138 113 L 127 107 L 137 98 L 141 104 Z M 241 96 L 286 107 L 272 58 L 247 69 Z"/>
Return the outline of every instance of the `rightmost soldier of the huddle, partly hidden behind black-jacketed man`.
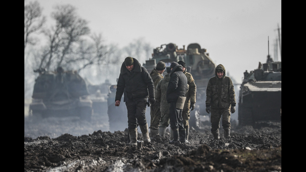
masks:
<path fill-rule="evenodd" d="M 196 85 L 192 75 L 186 71 L 186 63 L 182 60 L 178 61 L 177 63 L 183 66 L 183 73 L 187 77 L 188 81 L 187 83 L 189 85 L 188 91 L 186 92 L 186 101 L 182 113 L 184 128 L 186 129 L 186 143 L 189 143 L 188 135 L 189 135 L 190 109 L 191 111 L 195 109 Z"/>

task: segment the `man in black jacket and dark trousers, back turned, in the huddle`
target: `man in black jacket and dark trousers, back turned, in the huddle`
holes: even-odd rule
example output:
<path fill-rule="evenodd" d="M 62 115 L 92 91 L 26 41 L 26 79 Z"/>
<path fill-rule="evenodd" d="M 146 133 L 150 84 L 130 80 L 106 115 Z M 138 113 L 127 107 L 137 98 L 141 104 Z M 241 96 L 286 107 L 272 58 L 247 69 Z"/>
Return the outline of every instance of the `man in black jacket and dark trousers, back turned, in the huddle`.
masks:
<path fill-rule="evenodd" d="M 167 102 L 170 103 L 169 117 L 170 127 L 173 130 L 173 140 L 169 144 L 178 141 L 180 134 L 180 142 L 186 142 L 186 130 L 183 124 L 182 111 L 186 100 L 187 77 L 183 73 L 182 65 L 173 61 L 170 65 L 170 81 L 167 88 Z"/>

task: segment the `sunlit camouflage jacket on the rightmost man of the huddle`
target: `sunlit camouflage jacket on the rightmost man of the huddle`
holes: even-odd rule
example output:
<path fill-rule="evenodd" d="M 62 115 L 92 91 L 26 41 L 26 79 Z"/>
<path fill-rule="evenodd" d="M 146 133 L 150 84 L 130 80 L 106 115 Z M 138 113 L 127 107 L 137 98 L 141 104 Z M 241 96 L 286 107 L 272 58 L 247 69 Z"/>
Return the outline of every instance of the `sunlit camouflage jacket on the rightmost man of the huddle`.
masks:
<path fill-rule="evenodd" d="M 187 77 L 187 83 L 189 85 L 189 89 L 186 92 L 186 101 L 184 104 L 183 111 L 190 109 L 190 104 L 195 103 L 195 93 L 196 93 L 196 86 L 195 86 L 195 80 L 193 79 L 192 75 L 188 72 L 184 72 L 184 74 Z"/>

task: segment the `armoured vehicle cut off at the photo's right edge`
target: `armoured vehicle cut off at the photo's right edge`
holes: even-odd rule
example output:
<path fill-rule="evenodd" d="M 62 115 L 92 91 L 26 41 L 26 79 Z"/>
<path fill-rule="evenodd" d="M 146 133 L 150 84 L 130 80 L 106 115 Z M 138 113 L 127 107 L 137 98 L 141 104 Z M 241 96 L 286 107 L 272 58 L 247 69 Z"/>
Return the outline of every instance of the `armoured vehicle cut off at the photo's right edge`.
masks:
<path fill-rule="evenodd" d="M 254 71 L 244 72 L 239 91 L 239 125 L 257 128 L 281 122 L 282 62 L 267 56 Z"/>

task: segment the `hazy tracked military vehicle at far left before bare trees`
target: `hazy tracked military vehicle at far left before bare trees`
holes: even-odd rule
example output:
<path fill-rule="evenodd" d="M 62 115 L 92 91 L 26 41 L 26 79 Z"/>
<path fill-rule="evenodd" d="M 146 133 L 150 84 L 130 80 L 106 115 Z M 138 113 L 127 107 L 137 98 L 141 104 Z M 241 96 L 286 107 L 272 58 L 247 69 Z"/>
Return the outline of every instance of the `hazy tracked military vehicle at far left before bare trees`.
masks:
<path fill-rule="evenodd" d="M 77 116 L 91 121 L 92 101 L 85 80 L 77 71 L 38 69 L 35 79 L 29 115 L 33 119 Z"/>

